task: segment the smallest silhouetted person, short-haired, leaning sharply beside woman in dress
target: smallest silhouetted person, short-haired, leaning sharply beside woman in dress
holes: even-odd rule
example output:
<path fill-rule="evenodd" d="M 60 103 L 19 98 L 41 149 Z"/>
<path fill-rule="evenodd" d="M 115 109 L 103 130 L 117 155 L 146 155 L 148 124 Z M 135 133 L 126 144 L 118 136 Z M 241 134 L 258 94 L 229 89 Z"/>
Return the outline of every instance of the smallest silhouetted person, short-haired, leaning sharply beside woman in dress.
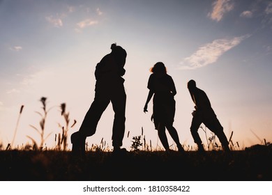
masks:
<path fill-rule="evenodd" d="M 211 108 L 211 102 L 204 91 L 197 88 L 194 80 L 188 81 L 188 90 L 190 92 L 192 101 L 195 103 L 195 111 L 192 112 L 192 124 L 190 127 L 190 132 L 192 137 L 197 143 L 198 151 L 204 152 L 202 145 L 202 140 L 199 137 L 198 129 L 199 126 L 204 123 L 206 127 L 214 132 L 220 143 L 222 144 L 223 150 L 229 152 L 229 141 L 223 132 L 223 127 L 220 124 L 215 112 Z"/>

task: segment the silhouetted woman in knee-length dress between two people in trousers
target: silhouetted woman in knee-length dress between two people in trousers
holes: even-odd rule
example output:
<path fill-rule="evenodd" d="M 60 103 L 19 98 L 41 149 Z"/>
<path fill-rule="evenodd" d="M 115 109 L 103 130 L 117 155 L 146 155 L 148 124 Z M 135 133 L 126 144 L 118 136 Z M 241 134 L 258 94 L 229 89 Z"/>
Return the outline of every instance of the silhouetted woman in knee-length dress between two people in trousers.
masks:
<path fill-rule="evenodd" d="M 162 62 L 156 63 L 151 68 L 153 74 L 149 77 L 147 88 L 149 88 L 149 95 L 144 105 L 144 112 L 147 111 L 149 101 L 153 97 L 153 121 L 155 129 L 158 130 L 158 137 L 165 150 L 169 150 L 169 143 L 165 134 L 165 128 L 168 130 L 172 139 L 175 141 L 180 152 L 184 152 L 181 143 L 179 142 L 179 135 L 173 127 L 174 115 L 176 111 L 176 102 L 174 95 L 176 95 L 176 87 L 171 76 L 167 75 L 165 65 Z"/>

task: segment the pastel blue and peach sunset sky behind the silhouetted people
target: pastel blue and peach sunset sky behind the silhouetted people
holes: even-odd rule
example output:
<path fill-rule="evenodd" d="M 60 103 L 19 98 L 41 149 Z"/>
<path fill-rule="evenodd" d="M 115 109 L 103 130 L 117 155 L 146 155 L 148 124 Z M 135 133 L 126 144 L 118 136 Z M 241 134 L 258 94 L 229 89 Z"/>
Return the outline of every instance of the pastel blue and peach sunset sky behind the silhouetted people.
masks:
<path fill-rule="evenodd" d="M 39 127 L 42 97 L 52 108 L 45 124 L 48 147 L 54 147 L 59 124 L 65 124 L 61 103 L 66 103 L 70 125 L 77 120 L 68 134 L 77 131 L 94 98 L 96 64 L 113 42 L 128 53 L 123 147 L 130 150 L 132 138 L 143 129 L 146 142 L 162 148 L 150 120 L 152 102 L 143 112 L 149 68 L 158 61 L 176 84 L 174 127 L 186 148 L 195 146 L 190 79 L 209 96 L 227 137 L 234 132 L 236 148 L 272 141 L 272 1 L 0 0 L 0 26 L 4 147 L 13 141 L 21 105 L 13 146 L 31 143 L 27 136 L 40 143 L 31 125 Z M 96 134 L 87 138 L 89 146 L 103 139 L 112 147 L 113 116 L 109 104 Z M 199 134 L 206 144 L 202 129 Z M 206 134 L 211 137 L 209 130 Z"/>

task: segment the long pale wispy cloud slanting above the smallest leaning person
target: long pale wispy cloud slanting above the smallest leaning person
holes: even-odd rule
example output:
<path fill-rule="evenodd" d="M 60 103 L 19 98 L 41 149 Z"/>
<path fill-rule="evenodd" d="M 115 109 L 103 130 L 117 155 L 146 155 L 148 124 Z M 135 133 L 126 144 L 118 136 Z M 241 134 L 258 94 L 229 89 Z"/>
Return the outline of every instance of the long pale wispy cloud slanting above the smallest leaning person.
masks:
<path fill-rule="evenodd" d="M 234 37 L 234 38 L 223 38 L 213 40 L 213 42 L 203 45 L 197 49 L 197 52 L 181 61 L 179 69 L 190 70 L 196 68 L 202 68 L 211 63 L 215 63 L 222 54 L 232 49 L 236 45 L 239 45 L 242 40 L 249 38 L 250 35 Z"/>

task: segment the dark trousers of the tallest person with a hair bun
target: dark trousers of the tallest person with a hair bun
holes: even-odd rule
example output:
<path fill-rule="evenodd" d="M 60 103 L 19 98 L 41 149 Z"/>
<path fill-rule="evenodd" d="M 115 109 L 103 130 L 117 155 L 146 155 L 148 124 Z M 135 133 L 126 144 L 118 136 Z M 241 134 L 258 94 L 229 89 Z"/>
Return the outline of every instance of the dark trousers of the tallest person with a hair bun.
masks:
<path fill-rule="evenodd" d="M 108 81 L 107 84 L 96 83 L 95 98 L 84 117 L 79 131 L 85 137 L 95 134 L 98 121 L 109 105 L 109 102 L 112 102 L 114 110 L 112 146 L 120 147 L 122 146 L 126 121 L 126 92 L 121 82 Z"/>

